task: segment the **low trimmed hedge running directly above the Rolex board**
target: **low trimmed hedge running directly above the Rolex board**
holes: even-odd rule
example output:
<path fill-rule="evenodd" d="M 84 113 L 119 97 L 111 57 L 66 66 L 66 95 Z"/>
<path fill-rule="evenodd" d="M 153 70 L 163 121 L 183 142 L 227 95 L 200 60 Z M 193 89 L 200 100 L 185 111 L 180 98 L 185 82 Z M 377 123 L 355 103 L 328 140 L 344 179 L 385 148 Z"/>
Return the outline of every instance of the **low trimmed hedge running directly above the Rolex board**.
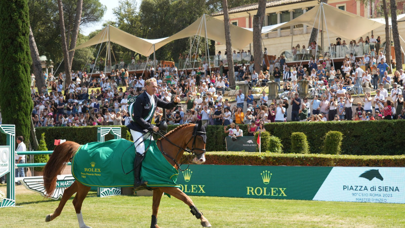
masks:
<path fill-rule="evenodd" d="M 403 167 L 405 164 L 405 156 L 314 155 L 216 151 L 207 152 L 206 162 L 204 164 Z"/>

